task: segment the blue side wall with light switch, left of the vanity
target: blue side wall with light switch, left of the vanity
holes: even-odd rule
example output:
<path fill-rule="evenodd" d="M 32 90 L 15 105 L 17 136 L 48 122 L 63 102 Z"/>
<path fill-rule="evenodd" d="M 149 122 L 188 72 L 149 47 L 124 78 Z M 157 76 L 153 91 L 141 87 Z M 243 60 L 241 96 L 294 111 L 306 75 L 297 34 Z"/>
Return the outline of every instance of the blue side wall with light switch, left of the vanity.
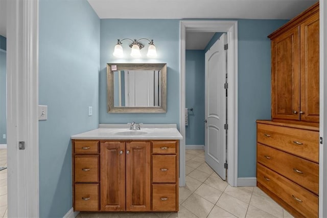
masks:
<path fill-rule="evenodd" d="M 39 4 L 40 217 L 72 208 L 70 137 L 98 127 L 100 19 L 86 0 Z M 93 116 L 88 116 L 88 106 Z"/>

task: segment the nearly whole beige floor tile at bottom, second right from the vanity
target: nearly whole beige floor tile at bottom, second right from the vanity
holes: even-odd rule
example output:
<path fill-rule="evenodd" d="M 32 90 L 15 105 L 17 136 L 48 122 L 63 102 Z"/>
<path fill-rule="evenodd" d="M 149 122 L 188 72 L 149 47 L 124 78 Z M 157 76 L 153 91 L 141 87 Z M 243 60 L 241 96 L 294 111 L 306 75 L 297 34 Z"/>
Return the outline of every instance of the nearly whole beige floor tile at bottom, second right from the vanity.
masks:
<path fill-rule="evenodd" d="M 216 205 L 237 217 L 245 217 L 248 207 L 248 204 L 225 193 L 221 195 Z"/>

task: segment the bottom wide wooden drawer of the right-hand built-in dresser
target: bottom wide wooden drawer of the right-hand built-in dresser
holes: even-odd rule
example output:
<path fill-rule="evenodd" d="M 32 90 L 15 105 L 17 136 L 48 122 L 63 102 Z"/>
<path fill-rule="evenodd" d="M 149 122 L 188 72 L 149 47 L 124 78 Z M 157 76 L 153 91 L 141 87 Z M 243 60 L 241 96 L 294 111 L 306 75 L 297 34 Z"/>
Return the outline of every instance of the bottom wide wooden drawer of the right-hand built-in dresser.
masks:
<path fill-rule="evenodd" d="M 318 216 L 318 197 L 285 177 L 258 163 L 258 183 L 275 193 L 306 217 Z"/>

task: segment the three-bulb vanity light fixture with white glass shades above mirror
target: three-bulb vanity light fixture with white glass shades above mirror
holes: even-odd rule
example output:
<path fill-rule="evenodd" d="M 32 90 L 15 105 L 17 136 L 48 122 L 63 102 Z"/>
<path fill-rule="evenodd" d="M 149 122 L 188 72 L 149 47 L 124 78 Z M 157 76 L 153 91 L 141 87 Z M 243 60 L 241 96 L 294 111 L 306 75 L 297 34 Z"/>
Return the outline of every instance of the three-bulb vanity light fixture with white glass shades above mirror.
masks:
<path fill-rule="evenodd" d="M 147 56 L 150 57 L 150 58 L 153 58 L 153 57 L 156 57 L 157 56 L 157 50 L 154 46 L 154 43 L 153 43 L 153 39 L 147 39 L 147 38 L 140 38 L 138 40 L 134 39 L 129 39 L 129 38 L 124 38 L 122 40 L 118 39 L 117 40 L 117 44 L 115 45 L 114 47 L 114 51 L 113 51 L 113 56 L 115 57 L 123 57 L 124 56 L 124 53 L 123 53 L 123 47 L 122 47 L 122 41 L 124 40 L 129 40 L 131 41 L 132 43 L 129 45 L 129 47 L 132 49 L 131 50 L 131 56 L 132 57 L 141 57 L 141 52 L 140 50 L 144 48 L 144 45 L 139 42 L 141 40 L 147 40 L 149 41 L 149 48 L 148 48 L 148 54 Z"/>

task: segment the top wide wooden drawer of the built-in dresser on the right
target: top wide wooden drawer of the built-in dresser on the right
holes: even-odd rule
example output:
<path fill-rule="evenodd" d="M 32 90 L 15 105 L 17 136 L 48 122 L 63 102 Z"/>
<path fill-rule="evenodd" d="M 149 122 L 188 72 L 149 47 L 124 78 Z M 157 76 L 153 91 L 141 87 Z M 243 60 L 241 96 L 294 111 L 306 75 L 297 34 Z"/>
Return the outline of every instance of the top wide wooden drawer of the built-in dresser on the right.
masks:
<path fill-rule="evenodd" d="M 257 125 L 258 142 L 318 163 L 318 132 L 262 123 Z"/>

